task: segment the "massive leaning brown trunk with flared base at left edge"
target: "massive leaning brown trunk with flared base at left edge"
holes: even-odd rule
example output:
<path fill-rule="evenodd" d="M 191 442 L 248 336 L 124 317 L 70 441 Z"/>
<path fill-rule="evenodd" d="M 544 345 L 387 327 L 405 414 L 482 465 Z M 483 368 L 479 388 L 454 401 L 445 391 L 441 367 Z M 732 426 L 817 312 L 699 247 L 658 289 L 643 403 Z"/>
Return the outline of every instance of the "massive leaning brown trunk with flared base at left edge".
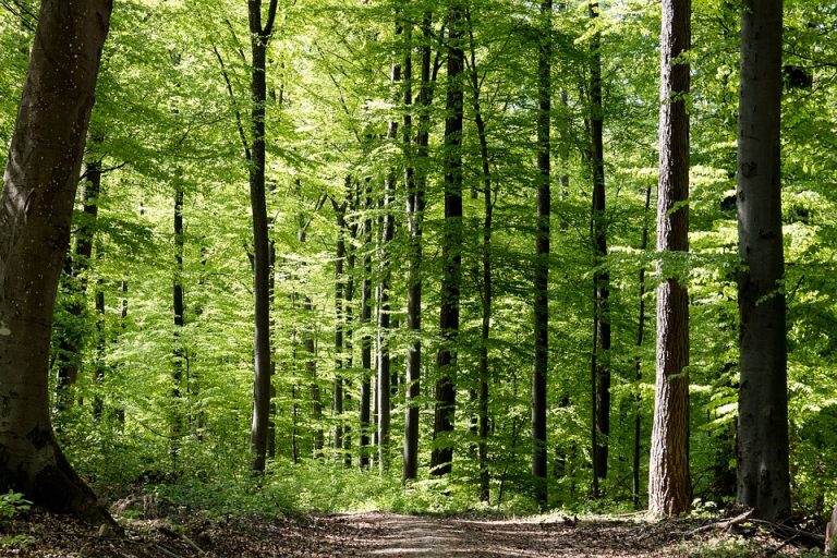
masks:
<path fill-rule="evenodd" d="M 0 194 L 0 492 L 106 521 L 58 447 L 49 343 L 111 2 L 44 0 Z"/>

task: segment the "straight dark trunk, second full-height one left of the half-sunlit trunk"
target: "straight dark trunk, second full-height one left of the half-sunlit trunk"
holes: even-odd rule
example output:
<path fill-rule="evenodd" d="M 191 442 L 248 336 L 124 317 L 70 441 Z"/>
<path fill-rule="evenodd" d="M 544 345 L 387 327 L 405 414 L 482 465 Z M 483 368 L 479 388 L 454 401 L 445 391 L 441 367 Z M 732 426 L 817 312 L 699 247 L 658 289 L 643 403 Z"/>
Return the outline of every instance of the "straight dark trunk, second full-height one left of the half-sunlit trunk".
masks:
<path fill-rule="evenodd" d="M 532 475 L 535 500 L 547 504 L 546 372 L 549 349 L 549 120 L 551 112 L 553 0 L 541 2 L 542 29 L 537 48 L 537 221 L 534 260 L 534 362 L 532 366 Z"/>

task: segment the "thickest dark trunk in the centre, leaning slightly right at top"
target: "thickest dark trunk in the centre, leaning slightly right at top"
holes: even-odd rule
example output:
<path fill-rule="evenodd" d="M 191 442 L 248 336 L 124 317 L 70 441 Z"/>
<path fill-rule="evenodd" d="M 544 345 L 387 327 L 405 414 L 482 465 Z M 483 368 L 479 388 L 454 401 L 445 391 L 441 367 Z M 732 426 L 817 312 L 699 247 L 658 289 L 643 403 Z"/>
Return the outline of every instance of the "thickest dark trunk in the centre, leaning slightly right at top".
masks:
<path fill-rule="evenodd" d="M 445 475 L 451 471 L 453 417 L 457 405 L 456 369 L 459 335 L 459 298 L 462 282 L 462 4 L 448 9 L 448 92 L 445 118 L 445 228 L 441 240 L 441 286 L 439 331 L 441 344 L 437 356 L 436 409 L 433 424 L 435 441 L 430 472 Z"/>

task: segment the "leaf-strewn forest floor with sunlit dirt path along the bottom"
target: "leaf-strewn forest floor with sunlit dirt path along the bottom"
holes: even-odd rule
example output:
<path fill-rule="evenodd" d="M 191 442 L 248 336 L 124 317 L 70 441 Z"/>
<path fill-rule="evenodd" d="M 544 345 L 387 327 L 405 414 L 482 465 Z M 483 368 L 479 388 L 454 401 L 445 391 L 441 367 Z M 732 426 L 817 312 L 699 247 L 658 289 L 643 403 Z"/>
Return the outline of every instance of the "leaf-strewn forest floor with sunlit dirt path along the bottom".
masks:
<path fill-rule="evenodd" d="M 0 521 L 0 556 L 118 557 L 660 557 L 801 556 L 815 537 L 741 522 L 642 515 L 531 519 L 336 515 L 208 518 L 181 510 L 165 519 L 121 520 L 124 537 L 70 518 L 27 513 Z M 16 541 L 16 542 L 15 542 Z M 812 556 L 813 554 L 809 554 Z"/>

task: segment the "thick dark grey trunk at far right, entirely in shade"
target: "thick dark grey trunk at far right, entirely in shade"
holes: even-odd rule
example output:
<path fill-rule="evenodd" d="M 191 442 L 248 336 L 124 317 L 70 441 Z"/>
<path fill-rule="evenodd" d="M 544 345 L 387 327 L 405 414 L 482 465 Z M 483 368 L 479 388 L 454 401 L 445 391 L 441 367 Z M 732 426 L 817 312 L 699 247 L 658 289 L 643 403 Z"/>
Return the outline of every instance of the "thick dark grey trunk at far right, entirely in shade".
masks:
<path fill-rule="evenodd" d="M 744 2 L 738 122 L 738 500 L 790 512 L 781 233 L 781 0 Z"/>

